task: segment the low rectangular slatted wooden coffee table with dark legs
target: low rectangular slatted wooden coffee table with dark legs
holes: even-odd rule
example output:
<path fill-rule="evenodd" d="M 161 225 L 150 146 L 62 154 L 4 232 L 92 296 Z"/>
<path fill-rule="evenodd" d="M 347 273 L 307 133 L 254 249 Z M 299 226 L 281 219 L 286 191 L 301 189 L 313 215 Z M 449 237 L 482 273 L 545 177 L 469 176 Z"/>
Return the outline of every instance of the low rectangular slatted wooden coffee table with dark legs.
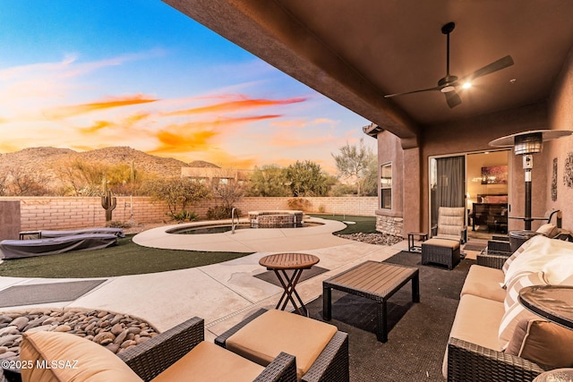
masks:
<path fill-rule="evenodd" d="M 322 312 L 324 319 L 332 317 L 332 289 L 374 300 L 378 306 L 376 338 L 388 341 L 386 302 L 408 281 L 412 280 L 412 301 L 420 301 L 420 281 L 417 267 L 398 266 L 378 261 L 366 261 L 322 282 Z"/>

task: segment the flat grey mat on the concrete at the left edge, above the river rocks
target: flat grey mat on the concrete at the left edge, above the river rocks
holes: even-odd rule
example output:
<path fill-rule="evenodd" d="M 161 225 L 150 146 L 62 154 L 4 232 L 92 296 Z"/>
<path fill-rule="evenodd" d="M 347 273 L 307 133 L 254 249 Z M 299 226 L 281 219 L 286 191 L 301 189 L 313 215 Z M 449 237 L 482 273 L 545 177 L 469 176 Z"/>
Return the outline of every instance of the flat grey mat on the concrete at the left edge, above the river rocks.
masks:
<path fill-rule="evenodd" d="M 13 285 L 0 291 L 0 308 L 73 301 L 107 279 Z"/>

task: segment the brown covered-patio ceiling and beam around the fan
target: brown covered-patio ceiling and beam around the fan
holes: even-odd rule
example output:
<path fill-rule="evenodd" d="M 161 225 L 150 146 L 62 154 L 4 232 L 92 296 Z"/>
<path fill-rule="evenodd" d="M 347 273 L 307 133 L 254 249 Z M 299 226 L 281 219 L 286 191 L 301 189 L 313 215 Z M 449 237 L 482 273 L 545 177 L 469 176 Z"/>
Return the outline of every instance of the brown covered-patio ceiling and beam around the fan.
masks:
<path fill-rule="evenodd" d="M 236 45 L 402 139 L 543 102 L 573 47 L 570 0 L 164 0 Z M 431 88 L 511 55 L 515 62 L 458 89 L 449 108 Z"/>

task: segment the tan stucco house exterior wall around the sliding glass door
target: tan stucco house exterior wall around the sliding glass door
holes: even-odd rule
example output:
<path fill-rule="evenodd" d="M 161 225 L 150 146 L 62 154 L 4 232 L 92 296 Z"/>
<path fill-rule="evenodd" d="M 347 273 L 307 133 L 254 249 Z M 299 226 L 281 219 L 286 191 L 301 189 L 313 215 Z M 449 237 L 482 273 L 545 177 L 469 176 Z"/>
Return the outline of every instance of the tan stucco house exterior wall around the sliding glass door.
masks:
<path fill-rule="evenodd" d="M 377 134 L 379 164 L 392 162 L 393 196 L 396 203 L 391 210 L 376 210 L 383 224 L 379 231 L 389 228 L 388 221 L 396 219 L 397 230 L 403 237 L 408 232 L 430 232 L 428 167 L 432 156 L 456 155 L 487 151 L 488 143 L 497 138 L 530 130 L 573 130 L 573 49 L 556 81 L 552 97 L 533 105 L 512 110 L 479 115 L 456 123 L 442 123 L 422 128 L 419 148 L 401 149 L 400 140 L 389 132 Z M 383 126 L 381 126 L 383 129 Z M 557 160 L 557 174 L 553 175 L 553 161 Z M 569 172 L 566 162 L 569 161 Z M 401 166 L 401 167 L 400 167 Z M 416 171 L 417 167 L 417 171 Z M 509 156 L 510 216 L 525 215 L 525 173 L 523 157 Z M 532 216 L 543 216 L 547 210 L 560 209 L 562 225 L 573 230 L 573 137 L 546 141 L 543 152 L 534 155 L 532 172 Z M 553 186 L 552 186 L 553 184 Z M 552 188 L 556 199 L 552 199 Z M 379 191 L 380 193 L 380 191 Z M 553 192 L 553 195 L 555 192 Z M 380 197 L 380 195 L 379 195 Z M 379 200 L 380 206 L 380 200 Z M 400 221 L 398 221 L 401 219 Z M 534 222 L 532 229 L 542 222 Z M 522 220 L 509 219 L 509 230 L 524 229 Z"/>

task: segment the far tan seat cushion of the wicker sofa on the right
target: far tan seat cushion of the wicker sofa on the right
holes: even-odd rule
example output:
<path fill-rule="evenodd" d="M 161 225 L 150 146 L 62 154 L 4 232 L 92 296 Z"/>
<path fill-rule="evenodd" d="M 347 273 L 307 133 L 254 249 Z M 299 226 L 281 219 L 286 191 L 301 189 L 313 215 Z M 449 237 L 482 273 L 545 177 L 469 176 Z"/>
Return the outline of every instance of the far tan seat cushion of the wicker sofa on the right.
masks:
<path fill-rule="evenodd" d="M 473 265 L 469 268 L 460 295 L 473 294 L 484 299 L 503 302 L 506 292 L 502 284 L 501 269 Z"/>

